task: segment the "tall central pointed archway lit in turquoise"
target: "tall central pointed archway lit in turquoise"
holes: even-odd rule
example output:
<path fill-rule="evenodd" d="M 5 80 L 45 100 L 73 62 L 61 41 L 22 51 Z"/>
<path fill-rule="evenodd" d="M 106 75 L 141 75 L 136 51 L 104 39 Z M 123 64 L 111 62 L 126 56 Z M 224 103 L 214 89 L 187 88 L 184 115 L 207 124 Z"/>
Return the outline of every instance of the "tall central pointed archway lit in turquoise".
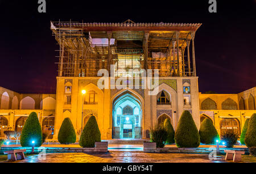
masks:
<path fill-rule="evenodd" d="M 113 100 L 112 138 L 142 138 L 142 102 L 130 91 Z"/>

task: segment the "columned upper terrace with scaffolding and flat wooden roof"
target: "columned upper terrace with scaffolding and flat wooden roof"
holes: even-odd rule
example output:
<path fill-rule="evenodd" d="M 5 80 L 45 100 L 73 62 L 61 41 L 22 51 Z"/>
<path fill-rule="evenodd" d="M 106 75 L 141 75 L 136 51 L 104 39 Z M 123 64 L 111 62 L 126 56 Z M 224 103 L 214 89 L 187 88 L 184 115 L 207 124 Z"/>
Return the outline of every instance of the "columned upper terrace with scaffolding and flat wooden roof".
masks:
<path fill-rule="evenodd" d="M 98 70 L 110 74 L 111 68 L 115 77 L 140 77 L 148 69 L 159 69 L 159 77 L 196 76 L 194 40 L 200 26 L 51 22 L 60 45 L 59 76 L 97 77 Z"/>

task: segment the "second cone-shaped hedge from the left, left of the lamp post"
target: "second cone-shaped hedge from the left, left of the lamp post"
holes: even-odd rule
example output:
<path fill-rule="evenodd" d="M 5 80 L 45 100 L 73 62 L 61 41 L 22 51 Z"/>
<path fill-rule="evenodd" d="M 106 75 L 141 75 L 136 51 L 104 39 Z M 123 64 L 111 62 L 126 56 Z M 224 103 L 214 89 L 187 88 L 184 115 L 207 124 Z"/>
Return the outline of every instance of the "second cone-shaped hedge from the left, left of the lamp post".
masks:
<path fill-rule="evenodd" d="M 76 142 L 76 131 L 70 118 L 65 118 L 60 126 L 58 141 L 61 144 L 68 145 Z"/>

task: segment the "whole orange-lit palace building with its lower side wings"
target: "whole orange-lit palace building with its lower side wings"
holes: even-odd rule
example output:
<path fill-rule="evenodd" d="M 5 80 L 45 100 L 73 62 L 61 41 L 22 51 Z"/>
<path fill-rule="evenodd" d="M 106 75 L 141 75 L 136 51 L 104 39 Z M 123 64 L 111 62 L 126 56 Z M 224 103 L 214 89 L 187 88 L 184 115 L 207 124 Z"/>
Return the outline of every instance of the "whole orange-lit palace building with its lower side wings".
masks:
<path fill-rule="evenodd" d="M 199 92 L 195 33 L 200 26 L 51 22 L 60 46 L 56 95 L 0 87 L 0 135 L 22 130 L 34 111 L 52 139 L 64 118 L 71 118 L 79 135 L 92 115 L 102 139 L 150 138 L 150 128 L 166 118 L 176 129 L 185 110 L 198 129 L 207 117 L 219 134 L 233 129 L 240 135 L 256 112 L 256 87 L 240 94 Z"/>

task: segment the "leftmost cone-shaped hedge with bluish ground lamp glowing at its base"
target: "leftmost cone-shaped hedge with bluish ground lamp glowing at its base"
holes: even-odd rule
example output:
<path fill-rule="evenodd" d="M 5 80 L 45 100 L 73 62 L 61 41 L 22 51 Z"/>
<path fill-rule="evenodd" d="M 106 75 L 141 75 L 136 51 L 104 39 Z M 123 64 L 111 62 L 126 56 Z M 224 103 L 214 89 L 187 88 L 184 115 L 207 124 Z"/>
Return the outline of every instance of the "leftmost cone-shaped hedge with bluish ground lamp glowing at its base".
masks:
<path fill-rule="evenodd" d="M 22 147 L 31 147 L 32 141 L 35 141 L 35 147 L 42 145 L 42 129 L 38 115 L 35 112 L 31 112 L 25 122 L 20 135 L 20 145 Z"/>

